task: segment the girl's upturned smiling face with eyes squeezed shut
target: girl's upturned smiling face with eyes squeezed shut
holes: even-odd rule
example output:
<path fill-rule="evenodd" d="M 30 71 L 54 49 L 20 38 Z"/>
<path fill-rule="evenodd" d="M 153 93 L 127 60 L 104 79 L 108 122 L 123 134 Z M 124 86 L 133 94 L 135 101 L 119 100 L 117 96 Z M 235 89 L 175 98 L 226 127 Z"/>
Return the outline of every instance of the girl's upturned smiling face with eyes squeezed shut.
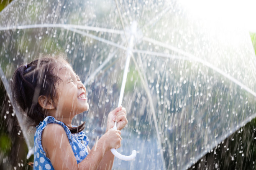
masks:
<path fill-rule="evenodd" d="M 58 101 L 56 109 L 63 117 L 73 117 L 89 109 L 86 89 L 68 64 L 61 65 L 58 76 L 62 81 L 56 85 Z"/>

